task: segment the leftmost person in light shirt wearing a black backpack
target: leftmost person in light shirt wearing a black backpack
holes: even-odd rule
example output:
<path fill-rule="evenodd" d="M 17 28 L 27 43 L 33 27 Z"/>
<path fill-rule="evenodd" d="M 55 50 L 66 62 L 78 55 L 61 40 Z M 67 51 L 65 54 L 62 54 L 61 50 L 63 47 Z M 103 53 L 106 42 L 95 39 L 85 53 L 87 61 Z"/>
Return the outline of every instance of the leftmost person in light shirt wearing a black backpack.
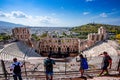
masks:
<path fill-rule="evenodd" d="M 13 71 L 14 80 L 22 80 L 21 67 L 23 67 L 23 64 L 21 62 L 18 62 L 17 58 L 13 58 L 13 63 L 10 66 L 10 71 Z"/>

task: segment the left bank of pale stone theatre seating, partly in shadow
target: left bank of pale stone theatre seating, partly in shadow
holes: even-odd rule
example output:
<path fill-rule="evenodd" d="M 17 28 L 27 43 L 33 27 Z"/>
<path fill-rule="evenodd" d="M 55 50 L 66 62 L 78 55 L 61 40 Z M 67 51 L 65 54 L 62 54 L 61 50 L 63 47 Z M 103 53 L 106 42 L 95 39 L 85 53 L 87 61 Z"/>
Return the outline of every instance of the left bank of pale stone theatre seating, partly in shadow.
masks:
<path fill-rule="evenodd" d="M 40 57 L 34 49 L 29 48 L 23 42 L 14 42 L 5 47 L 0 52 L 0 58 L 3 60 L 12 60 L 14 57 L 19 60 L 23 60 L 24 57 L 27 59 L 28 57 Z"/>

